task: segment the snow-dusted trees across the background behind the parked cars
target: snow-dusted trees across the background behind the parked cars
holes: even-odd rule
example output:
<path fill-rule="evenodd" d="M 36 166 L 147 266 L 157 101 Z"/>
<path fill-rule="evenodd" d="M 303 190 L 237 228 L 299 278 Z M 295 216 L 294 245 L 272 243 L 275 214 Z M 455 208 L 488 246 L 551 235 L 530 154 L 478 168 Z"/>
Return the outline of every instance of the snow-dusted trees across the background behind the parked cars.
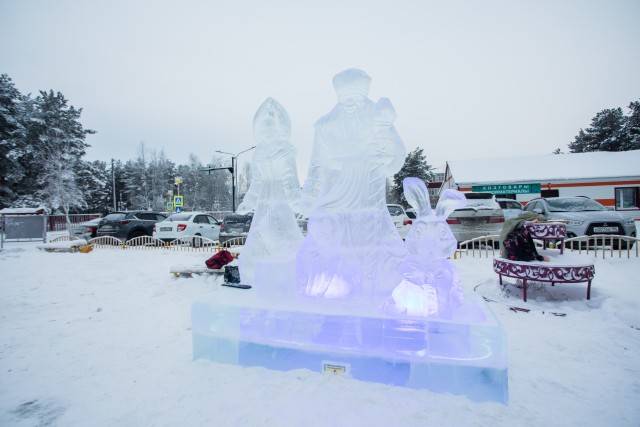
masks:
<path fill-rule="evenodd" d="M 596 114 L 587 129 L 580 129 L 569 151 L 626 151 L 640 149 L 640 101 Z M 138 147 L 135 160 L 83 160 L 95 133 L 80 123 L 82 109 L 69 105 L 60 93 L 21 94 L 11 78 L 0 75 L 0 209 L 40 207 L 60 213 L 106 213 L 114 208 L 164 211 L 172 195 L 184 197 L 185 210 L 232 209 L 228 158 L 213 157 L 206 165 L 196 156 L 176 165 L 163 151 Z M 562 153 L 558 148 L 555 153 Z M 211 174 L 204 167 L 223 168 Z M 239 175 L 237 200 L 251 182 L 251 167 Z M 389 203 L 406 204 L 402 180 L 415 176 L 433 179 L 422 148 L 409 153 L 402 169 L 388 180 Z M 181 179 L 180 186 L 175 179 Z"/>

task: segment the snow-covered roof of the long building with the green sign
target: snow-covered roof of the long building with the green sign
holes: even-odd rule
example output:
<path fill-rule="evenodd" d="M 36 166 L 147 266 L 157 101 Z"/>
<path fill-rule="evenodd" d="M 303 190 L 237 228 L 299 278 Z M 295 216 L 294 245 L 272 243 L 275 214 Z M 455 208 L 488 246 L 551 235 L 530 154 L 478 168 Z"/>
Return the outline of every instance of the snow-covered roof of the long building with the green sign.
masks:
<path fill-rule="evenodd" d="M 640 150 L 449 161 L 460 183 L 640 177 Z"/>

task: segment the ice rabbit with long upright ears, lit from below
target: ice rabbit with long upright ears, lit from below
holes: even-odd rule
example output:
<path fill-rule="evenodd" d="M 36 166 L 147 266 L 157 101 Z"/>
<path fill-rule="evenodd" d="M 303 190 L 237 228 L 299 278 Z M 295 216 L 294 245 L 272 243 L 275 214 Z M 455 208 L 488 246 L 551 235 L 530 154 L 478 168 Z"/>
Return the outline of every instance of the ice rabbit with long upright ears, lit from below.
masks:
<path fill-rule="evenodd" d="M 434 214 L 424 182 L 405 178 L 402 184 L 417 218 L 405 238 L 409 253 L 400 265 L 403 279 L 393 290 L 394 304 L 387 306 L 387 311 L 451 318 L 463 301 L 463 292 L 457 269 L 448 259 L 457 241 L 446 219 L 455 209 L 463 208 L 467 199 L 457 190 L 444 190 Z"/>

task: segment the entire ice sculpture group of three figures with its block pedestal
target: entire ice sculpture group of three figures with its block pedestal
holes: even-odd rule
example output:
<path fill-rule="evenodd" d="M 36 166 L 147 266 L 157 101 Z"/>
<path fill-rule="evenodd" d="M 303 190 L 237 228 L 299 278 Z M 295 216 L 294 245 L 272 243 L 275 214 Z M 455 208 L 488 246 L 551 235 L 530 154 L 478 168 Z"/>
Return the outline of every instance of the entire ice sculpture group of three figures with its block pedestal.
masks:
<path fill-rule="evenodd" d="M 405 246 L 385 200 L 386 177 L 405 150 L 391 103 L 370 101 L 369 82 L 353 69 L 334 78 L 339 103 L 316 124 L 301 200 L 308 234 L 295 262 L 287 252 L 301 239 L 289 121 L 272 100 L 256 114 L 254 177 L 239 207 L 255 208 L 239 261 L 242 281 L 256 286 L 193 303 L 193 357 L 506 402 L 504 330 L 478 295 L 462 299 L 446 259 L 456 240 L 445 219 L 466 199 L 447 190 L 433 214 L 424 183 L 407 179 L 418 218 Z"/>

